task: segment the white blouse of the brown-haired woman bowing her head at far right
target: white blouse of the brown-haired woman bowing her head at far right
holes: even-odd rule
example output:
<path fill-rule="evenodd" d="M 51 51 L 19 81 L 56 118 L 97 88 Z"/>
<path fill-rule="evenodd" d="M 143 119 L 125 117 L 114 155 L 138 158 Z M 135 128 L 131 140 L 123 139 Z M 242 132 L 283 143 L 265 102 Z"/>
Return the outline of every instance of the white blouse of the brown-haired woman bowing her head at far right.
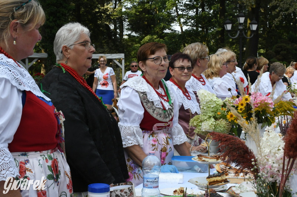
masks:
<path fill-rule="evenodd" d="M 270 96 L 269 93 L 272 93 L 272 85 L 271 80 L 269 79 L 269 72 L 263 73 L 262 77 L 260 78 L 260 84 L 256 89 L 256 84 L 258 79 L 255 81 L 255 83 L 252 85 L 252 92 L 259 91 L 263 96 Z M 274 101 L 277 99 L 278 96 L 280 96 L 284 91 L 287 90 L 287 86 L 282 83 L 282 80 L 279 80 L 275 83 L 275 91 L 272 100 Z M 268 95 L 269 94 L 269 95 Z M 284 94 L 282 97 L 284 100 L 288 101 L 292 99 L 292 96 L 289 92 Z"/>

